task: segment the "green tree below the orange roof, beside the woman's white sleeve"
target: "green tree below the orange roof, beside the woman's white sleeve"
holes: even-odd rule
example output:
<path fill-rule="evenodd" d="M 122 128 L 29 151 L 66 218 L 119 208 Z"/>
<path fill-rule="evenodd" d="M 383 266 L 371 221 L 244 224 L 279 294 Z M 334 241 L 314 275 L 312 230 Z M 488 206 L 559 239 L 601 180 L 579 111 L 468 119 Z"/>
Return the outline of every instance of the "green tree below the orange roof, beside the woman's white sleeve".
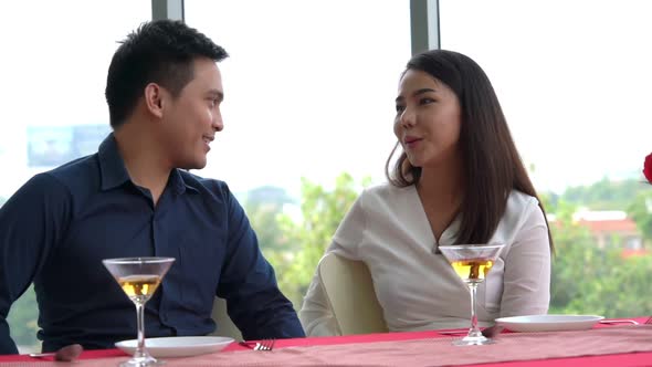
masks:
<path fill-rule="evenodd" d="M 575 206 L 559 202 L 551 232 L 550 313 L 631 317 L 652 314 L 648 294 L 652 256 L 623 258 L 614 245 L 598 248 L 588 229 L 572 221 Z"/>

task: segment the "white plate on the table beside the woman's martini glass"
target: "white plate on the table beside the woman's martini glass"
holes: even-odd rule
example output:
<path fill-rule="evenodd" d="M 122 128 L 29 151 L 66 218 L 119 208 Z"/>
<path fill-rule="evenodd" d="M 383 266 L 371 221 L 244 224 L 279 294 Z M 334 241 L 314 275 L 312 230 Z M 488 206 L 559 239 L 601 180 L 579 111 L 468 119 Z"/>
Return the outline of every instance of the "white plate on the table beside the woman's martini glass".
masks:
<path fill-rule="evenodd" d="M 496 323 L 513 332 L 586 331 L 604 317 L 596 315 L 528 315 L 496 318 Z"/>

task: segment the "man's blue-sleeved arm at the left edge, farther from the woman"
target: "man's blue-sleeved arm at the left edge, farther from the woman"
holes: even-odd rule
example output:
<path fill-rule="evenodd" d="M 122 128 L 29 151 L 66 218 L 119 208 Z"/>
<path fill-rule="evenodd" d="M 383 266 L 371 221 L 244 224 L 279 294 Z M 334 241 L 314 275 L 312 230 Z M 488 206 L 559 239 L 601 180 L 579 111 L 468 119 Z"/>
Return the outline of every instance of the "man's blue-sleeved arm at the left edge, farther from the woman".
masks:
<path fill-rule="evenodd" d="M 33 177 L 0 208 L 0 354 L 15 354 L 7 315 L 59 239 L 71 212 L 69 191 L 53 177 Z"/>

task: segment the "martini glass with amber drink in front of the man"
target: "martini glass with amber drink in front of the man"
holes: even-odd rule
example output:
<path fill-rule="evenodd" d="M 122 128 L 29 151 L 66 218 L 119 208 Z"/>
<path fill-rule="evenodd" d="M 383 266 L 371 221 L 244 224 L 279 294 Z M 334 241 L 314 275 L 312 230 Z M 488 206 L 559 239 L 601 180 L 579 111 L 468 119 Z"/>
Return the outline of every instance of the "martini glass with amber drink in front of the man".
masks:
<path fill-rule="evenodd" d="M 102 260 L 111 275 L 118 282 L 129 300 L 136 304 L 138 347 L 132 359 L 120 366 L 153 366 L 160 364 L 145 349 L 145 303 L 149 301 L 162 277 L 175 261 L 173 258 L 124 258 Z"/>

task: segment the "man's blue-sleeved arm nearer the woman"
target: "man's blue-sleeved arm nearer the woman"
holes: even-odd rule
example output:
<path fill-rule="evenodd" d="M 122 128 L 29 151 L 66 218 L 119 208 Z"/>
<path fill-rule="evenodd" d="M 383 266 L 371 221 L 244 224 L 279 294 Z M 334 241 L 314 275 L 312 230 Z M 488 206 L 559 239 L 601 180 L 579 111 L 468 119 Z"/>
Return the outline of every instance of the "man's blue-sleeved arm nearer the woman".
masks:
<path fill-rule="evenodd" d="M 218 296 L 245 339 L 303 337 L 292 303 L 281 293 L 244 210 L 225 185 L 229 234 Z M 218 325 L 219 329 L 220 325 Z"/>

